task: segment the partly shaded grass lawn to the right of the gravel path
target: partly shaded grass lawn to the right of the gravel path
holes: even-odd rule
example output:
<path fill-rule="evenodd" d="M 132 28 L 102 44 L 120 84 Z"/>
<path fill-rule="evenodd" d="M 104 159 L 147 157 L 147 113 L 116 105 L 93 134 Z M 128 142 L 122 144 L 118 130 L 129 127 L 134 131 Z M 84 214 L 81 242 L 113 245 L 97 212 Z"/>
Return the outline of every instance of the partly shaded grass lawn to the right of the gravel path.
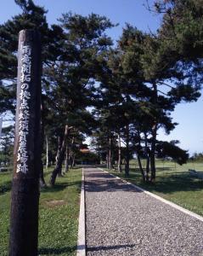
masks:
<path fill-rule="evenodd" d="M 181 207 L 189 209 L 203 216 L 203 180 L 189 177 L 189 169 L 203 171 L 203 163 L 189 163 L 178 166 L 173 162 L 161 160 L 156 162 L 156 181 L 155 184 L 143 183 L 141 174 L 138 170 L 138 163 L 131 162 L 130 177 L 125 178 L 121 174 L 111 170 L 113 174 L 127 179 L 131 183 L 149 190 L 156 195 L 160 195 L 168 201 L 172 201 Z"/>

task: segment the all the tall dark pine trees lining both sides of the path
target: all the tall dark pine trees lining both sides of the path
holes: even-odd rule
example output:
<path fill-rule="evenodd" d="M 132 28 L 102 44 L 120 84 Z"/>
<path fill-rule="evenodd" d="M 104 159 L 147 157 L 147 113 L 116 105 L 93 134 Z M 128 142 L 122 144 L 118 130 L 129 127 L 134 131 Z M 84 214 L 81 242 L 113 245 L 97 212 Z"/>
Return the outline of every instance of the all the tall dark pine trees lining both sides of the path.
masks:
<path fill-rule="evenodd" d="M 156 136 L 161 128 L 167 134 L 175 128 L 171 113 L 178 103 L 200 96 L 200 1 L 155 2 L 149 11 L 163 14 L 159 31 L 145 33 L 127 24 L 116 45 L 105 34 L 114 25 L 104 16 L 67 13 L 48 26 L 45 9 L 32 0 L 15 3 L 22 14 L 0 26 L 0 109 L 14 112 L 18 32 L 37 28 L 42 34 L 42 141 L 57 148 L 52 185 L 64 160 L 67 171 L 87 136 L 100 160 L 109 168 L 116 160 L 119 172 L 124 162 L 127 176 L 136 154 L 144 181 L 155 180 L 157 156 L 186 162 L 188 154 L 177 141 Z"/>

